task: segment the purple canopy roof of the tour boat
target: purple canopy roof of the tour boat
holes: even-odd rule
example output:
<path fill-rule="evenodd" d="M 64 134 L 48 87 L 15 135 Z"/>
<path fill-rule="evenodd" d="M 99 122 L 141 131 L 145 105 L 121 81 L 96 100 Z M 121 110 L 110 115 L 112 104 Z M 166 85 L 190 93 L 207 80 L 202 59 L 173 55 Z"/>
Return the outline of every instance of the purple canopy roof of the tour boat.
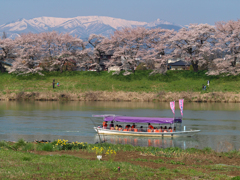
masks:
<path fill-rule="evenodd" d="M 129 123 L 153 123 L 153 124 L 173 124 L 182 122 L 181 118 L 160 118 L 160 117 L 133 117 L 116 115 L 93 115 L 93 117 L 104 117 L 104 121 L 117 121 Z"/>

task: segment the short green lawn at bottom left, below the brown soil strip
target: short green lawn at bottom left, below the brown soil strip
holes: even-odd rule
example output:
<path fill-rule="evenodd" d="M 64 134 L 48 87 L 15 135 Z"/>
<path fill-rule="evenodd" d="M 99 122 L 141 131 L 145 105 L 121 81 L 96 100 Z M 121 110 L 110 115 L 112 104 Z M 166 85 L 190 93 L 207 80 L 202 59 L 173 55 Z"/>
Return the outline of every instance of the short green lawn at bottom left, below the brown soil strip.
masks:
<path fill-rule="evenodd" d="M 153 169 L 129 162 L 110 162 L 77 158 L 69 155 L 45 155 L 0 150 L 1 179 L 175 179 L 179 175 L 205 176 L 192 169 Z M 117 171 L 121 167 L 121 171 Z M 229 179 L 227 176 L 222 176 Z"/>

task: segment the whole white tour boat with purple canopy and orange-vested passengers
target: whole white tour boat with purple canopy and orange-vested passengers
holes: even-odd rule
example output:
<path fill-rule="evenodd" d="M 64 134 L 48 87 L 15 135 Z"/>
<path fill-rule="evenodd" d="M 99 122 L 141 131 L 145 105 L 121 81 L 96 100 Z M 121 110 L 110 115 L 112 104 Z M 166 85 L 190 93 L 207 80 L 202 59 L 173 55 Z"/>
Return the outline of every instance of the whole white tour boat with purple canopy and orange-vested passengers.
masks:
<path fill-rule="evenodd" d="M 200 132 L 200 130 L 186 130 L 186 126 L 184 126 L 182 130 L 182 117 L 132 117 L 113 114 L 93 115 L 93 117 L 102 117 L 103 122 L 111 123 L 109 126 L 99 125 L 94 127 L 94 130 L 98 134 L 171 137 L 193 136 L 194 134 Z M 135 127 L 132 127 L 130 124 L 135 125 Z"/>

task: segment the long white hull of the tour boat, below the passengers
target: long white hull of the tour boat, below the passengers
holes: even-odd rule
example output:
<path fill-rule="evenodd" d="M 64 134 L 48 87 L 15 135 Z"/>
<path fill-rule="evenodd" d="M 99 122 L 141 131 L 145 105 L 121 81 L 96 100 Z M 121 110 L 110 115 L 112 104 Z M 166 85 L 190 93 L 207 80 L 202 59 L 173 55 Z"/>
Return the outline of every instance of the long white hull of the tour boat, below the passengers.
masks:
<path fill-rule="evenodd" d="M 134 132 L 134 131 L 118 131 L 94 127 L 94 130 L 99 134 L 108 135 L 126 135 L 126 136 L 147 136 L 147 137 L 165 137 L 165 136 L 193 136 L 200 132 L 200 130 L 177 131 L 177 132 Z"/>

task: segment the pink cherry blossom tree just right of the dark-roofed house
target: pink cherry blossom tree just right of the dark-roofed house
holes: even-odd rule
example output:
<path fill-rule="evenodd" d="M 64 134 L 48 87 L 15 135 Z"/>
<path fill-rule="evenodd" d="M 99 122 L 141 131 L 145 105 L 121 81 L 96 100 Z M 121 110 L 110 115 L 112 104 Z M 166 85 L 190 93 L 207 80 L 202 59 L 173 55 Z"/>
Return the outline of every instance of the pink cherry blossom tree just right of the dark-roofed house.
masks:
<path fill-rule="evenodd" d="M 180 29 L 170 39 L 172 57 L 184 58 L 191 63 L 194 71 L 198 71 L 198 66 L 206 63 L 204 57 L 211 54 L 214 34 L 215 28 L 209 24 L 190 24 Z"/>

